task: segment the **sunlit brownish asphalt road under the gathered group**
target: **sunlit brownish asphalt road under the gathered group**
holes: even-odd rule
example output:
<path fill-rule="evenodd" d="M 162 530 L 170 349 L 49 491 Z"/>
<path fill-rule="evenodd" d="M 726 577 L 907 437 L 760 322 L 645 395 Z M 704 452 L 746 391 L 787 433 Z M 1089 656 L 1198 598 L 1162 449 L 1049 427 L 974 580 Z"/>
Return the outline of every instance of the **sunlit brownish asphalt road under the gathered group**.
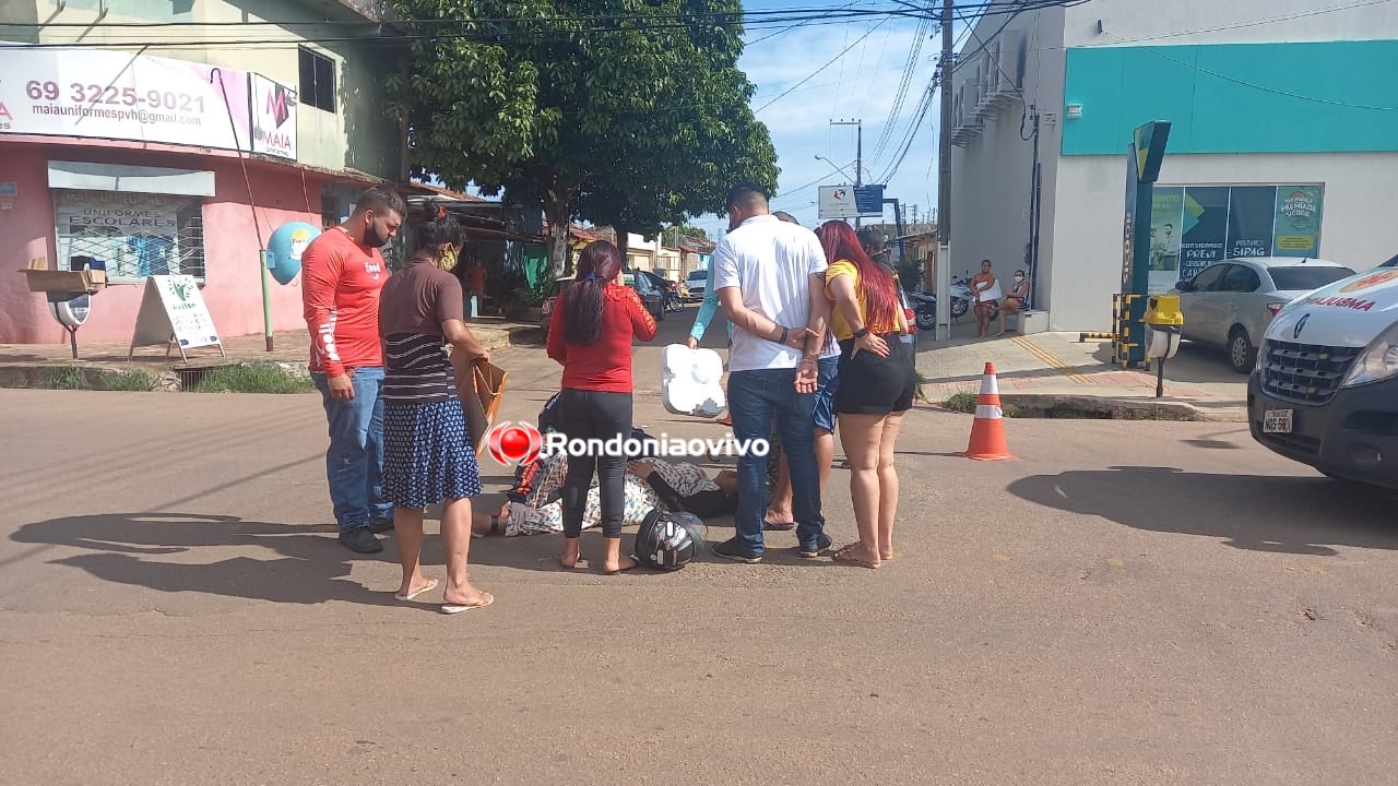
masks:
<path fill-rule="evenodd" d="M 636 357 L 637 424 L 721 432 Z M 496 359 L 533 420 L 556 366 Z M 0 782 L 1394 782 L 1392 495 L 1240 425 L 1016 420 L 976 463 L 970 422 L 909 414 L 879 571 L 487 538 L 498 601 L 449 618 L 329 533 L 316 396 L 0 390 Z"/>

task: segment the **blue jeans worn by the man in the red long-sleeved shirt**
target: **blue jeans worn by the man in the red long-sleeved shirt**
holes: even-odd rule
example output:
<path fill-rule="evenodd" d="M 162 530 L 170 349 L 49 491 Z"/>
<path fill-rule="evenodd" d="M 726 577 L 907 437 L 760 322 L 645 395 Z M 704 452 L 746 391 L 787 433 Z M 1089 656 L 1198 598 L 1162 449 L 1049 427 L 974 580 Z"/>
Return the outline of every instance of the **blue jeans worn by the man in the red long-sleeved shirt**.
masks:
<path fill-rule="evenodd" d="M 330 397 L 326 375 L 310 376 L 330 421 L 326 480 L 336 524 L 345 533 L 393 519 L 393 502 L 383 496 L 383 369 L 356 368 L 354 399 L 348 401 Z"/>

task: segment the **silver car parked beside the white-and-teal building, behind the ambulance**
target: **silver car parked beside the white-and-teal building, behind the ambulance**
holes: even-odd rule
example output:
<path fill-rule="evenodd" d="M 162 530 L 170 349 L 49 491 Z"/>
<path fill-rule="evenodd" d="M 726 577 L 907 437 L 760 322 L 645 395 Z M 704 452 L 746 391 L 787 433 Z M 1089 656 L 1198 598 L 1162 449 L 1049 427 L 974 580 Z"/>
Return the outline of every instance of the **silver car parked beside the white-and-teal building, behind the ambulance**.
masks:
<path fill-rule="evenodd" d="M 1184 313 L 1181 336 L 1226 348 L 1233 371 L 1250 373 L 1257 364 L 1257 343 L 1282 306 L 1353 274 L 1343 264 L 1320 259 L 1220 262 L 1176 285 Z"/>

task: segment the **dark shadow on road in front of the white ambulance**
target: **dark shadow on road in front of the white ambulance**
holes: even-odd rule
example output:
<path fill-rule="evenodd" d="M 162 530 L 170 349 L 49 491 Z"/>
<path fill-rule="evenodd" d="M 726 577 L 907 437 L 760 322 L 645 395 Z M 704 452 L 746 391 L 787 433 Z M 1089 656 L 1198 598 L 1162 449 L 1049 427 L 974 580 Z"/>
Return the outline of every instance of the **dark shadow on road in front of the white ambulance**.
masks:
<path fill-rule="evenodd" d="M 1398 550 L 1395 494 L 1327 478 L 1110 467 L 1032 476 L 1008 491 L 1138 530 L 1223 538 L 1233 548 L 1334 557 L 1331 545 Z"/>

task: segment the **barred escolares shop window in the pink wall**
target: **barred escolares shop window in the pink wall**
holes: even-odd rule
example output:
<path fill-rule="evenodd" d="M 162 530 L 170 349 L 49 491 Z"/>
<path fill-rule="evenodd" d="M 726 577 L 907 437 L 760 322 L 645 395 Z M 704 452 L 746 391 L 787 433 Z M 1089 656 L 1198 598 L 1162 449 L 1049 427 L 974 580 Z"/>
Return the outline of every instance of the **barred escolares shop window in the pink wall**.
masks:
<path fill-rule="evenodd" d="M 60 270 L 101 263 L 112 284 L 147 276 L 204 278 L 204 200 L 55 189 Z"/>

